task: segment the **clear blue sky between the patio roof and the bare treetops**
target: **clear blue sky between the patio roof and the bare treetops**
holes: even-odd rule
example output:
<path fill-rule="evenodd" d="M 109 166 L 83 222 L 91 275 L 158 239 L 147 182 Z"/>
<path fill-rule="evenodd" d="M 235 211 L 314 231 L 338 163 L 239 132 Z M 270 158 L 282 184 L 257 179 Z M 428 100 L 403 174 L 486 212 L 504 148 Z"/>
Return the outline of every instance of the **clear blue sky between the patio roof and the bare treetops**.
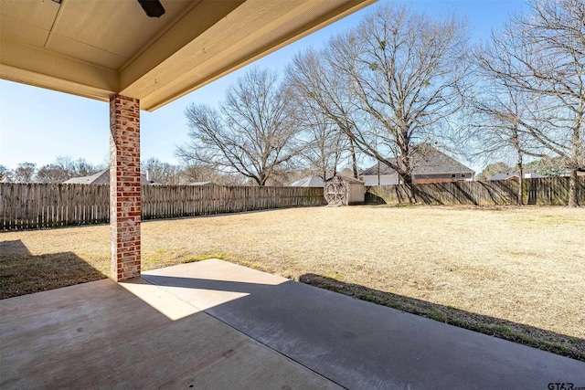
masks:
<path fill-rule="evenodd" d="M 411 0 L 413 8 L 432 16 L 455 12 L 467 18 L 472 39 L 488 37 L 507 16 L 518 11 L 522 0 Z M 375 6 L 375 5 L 374 5 Z M 253 65 L 284 69 L 304 47 L 319 47 L 328 37 L 355 26 L 366 10 L 327 26 L 309 37 L 261 58 Z M 184 115 L 191 103 L 216 104 L 224 91 L 246 68 L 229 74 L 200 90 L 154 111 L 141 113 L 141 156 L 178 163 L 176 146 L 188 142 Z M 0 80 L 0 165 L 14 169 L 18 163 L 52 163 L 58 155 L 104 163 L 109 151 L 108 103 Z M 478 168 L 478 167 L 475 167 Z"/>

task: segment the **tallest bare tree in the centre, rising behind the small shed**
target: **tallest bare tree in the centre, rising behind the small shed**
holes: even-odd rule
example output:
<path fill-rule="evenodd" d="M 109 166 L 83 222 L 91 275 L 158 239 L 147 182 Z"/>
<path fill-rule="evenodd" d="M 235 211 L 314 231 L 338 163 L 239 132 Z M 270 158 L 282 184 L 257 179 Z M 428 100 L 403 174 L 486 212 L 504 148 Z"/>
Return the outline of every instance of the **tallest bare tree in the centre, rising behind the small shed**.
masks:
<path fill-rule="evenodd" d="M 296 56 L 287 75 L 361 152 L 410 185 L 413 147 L 444 136 L 463 106 L 466 55 L 462 20 L 387 4 L 319 52 Z"/>

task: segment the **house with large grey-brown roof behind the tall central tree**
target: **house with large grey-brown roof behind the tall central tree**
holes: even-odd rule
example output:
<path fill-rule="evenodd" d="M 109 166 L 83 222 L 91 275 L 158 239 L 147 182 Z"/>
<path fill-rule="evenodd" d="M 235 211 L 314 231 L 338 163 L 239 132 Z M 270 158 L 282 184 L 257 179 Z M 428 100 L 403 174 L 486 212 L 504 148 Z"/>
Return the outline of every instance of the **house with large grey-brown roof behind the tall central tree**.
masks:
<path fill-rule="evenodd" d="M 473 169 L 459 163 L 431 145 L 417 145 L 412 153 L 412 183 L 441 183 L 473 180 Z M 390 159 L 396 163 L 396 159 Z M 378 176 L 379 167 L 379 176 Z M 365 185 L 399 184 L 399 174 L 384 163 L 377 163 L 359 174 Z"/>

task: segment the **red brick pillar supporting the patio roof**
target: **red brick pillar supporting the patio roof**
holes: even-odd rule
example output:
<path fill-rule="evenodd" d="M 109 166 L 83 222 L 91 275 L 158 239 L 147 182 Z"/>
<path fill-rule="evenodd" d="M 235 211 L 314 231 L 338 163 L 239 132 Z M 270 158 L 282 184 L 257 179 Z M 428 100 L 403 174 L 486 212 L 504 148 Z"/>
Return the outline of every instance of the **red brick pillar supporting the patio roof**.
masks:
<path fill-rule="evenodd" d="M 114 280 L 140 276 L 140 101 L 110 99 L 110 227 Z"/>

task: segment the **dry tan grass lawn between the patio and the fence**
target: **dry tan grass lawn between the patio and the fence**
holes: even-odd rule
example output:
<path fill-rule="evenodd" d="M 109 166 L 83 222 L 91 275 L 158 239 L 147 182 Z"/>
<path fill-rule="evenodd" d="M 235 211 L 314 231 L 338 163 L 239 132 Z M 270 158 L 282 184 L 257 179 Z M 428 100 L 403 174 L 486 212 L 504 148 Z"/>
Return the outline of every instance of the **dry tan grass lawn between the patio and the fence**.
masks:
<path fill-rule="evenodd" d="M 107 226 L 0 233 L 1 297 L 100 279 L 109 239 Z M 311 207 L 144 222 L 144 269 L 208 257 L 585 360 L 585 208 Z"/>

